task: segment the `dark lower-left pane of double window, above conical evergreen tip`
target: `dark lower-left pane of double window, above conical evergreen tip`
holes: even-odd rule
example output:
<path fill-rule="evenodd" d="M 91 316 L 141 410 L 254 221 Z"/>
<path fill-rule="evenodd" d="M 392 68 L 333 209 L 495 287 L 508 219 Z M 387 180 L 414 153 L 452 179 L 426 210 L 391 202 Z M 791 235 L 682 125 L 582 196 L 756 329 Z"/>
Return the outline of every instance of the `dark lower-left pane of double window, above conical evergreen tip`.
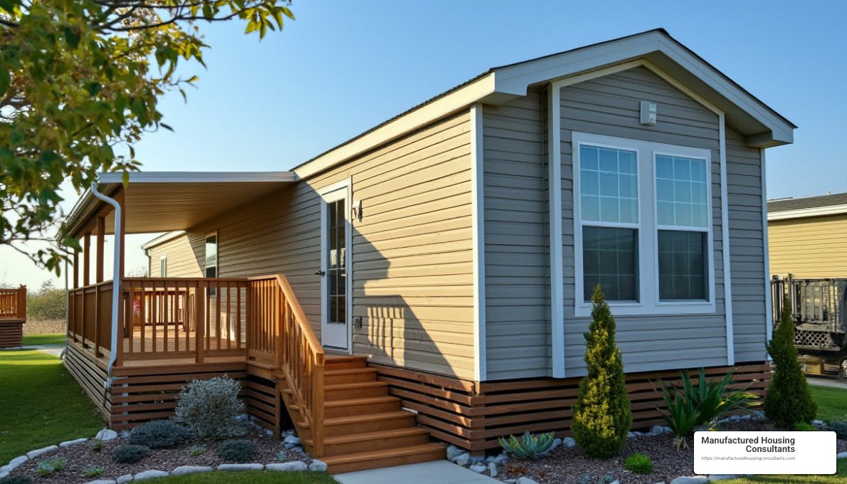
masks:
<path fill-rule="evenodd" d="M 583 227 L 583 298 L 601 285 L 609 301 L 638 300 L 638 231 Z"/>

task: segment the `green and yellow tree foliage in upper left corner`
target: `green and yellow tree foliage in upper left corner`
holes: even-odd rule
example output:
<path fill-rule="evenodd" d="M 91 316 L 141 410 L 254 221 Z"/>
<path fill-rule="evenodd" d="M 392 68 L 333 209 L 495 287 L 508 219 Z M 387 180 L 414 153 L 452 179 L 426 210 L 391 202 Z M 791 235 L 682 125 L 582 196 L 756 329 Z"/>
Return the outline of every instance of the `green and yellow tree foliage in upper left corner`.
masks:
<path fill-rule="evenodd" d="M 133 144 L 162 122 L 158 99 L 197 76 L 200 25 L 241 19 L 261 38 L 290 0 L 0 0 L 0 244 L 58 273 L 63 247 L 33 249 L 61 219 L 59 185 L 137 170 Z"/>

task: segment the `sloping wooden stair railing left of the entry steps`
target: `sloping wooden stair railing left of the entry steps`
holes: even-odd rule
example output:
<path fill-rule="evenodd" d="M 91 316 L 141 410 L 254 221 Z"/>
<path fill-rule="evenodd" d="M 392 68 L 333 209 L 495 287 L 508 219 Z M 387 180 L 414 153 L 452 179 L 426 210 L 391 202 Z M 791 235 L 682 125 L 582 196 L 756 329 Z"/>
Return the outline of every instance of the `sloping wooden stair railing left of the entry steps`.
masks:
<path fill-rule="evenodd" d="M 324 348 L 285 275 L 250 281 L 247 358 L 282 370 L 312 433 L 313 456 L 324 454 Z"/>

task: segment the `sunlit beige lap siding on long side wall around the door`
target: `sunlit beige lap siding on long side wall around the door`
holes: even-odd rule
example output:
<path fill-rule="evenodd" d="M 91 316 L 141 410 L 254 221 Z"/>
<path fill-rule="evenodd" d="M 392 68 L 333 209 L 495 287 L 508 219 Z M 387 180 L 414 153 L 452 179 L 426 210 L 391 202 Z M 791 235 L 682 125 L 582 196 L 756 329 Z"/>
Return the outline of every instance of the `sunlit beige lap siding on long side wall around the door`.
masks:
<path fill-rule="evenodd" d="M 208 231 L 219 231 L 221 277 L 288 276 L 319 335 L 318 192 L 348 179 L 352 200 L 363 205 L 362 220 L 353 221 L 348 276 L 353 315 L 363 320 L 353 329 L 354 353 L 473 379 L 467 112 L 208 220 L 193 227 L 189 238 L 202 242 Z M 189 245 L 182 247 L 187 252 Z M 201 269 L 202 256 L 197 254 Z"/>

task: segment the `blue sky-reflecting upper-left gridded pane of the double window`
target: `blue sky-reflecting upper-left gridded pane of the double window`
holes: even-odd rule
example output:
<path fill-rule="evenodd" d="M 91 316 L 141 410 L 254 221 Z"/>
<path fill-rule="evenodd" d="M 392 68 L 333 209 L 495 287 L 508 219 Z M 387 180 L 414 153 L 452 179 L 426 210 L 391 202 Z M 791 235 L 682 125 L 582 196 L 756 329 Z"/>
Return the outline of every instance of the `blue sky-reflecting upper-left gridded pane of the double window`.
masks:
<path fill-rule="evenodd" d="M 579 146 L 582 220 L 638 223 L 636 153 L 608 147 Z"/>

